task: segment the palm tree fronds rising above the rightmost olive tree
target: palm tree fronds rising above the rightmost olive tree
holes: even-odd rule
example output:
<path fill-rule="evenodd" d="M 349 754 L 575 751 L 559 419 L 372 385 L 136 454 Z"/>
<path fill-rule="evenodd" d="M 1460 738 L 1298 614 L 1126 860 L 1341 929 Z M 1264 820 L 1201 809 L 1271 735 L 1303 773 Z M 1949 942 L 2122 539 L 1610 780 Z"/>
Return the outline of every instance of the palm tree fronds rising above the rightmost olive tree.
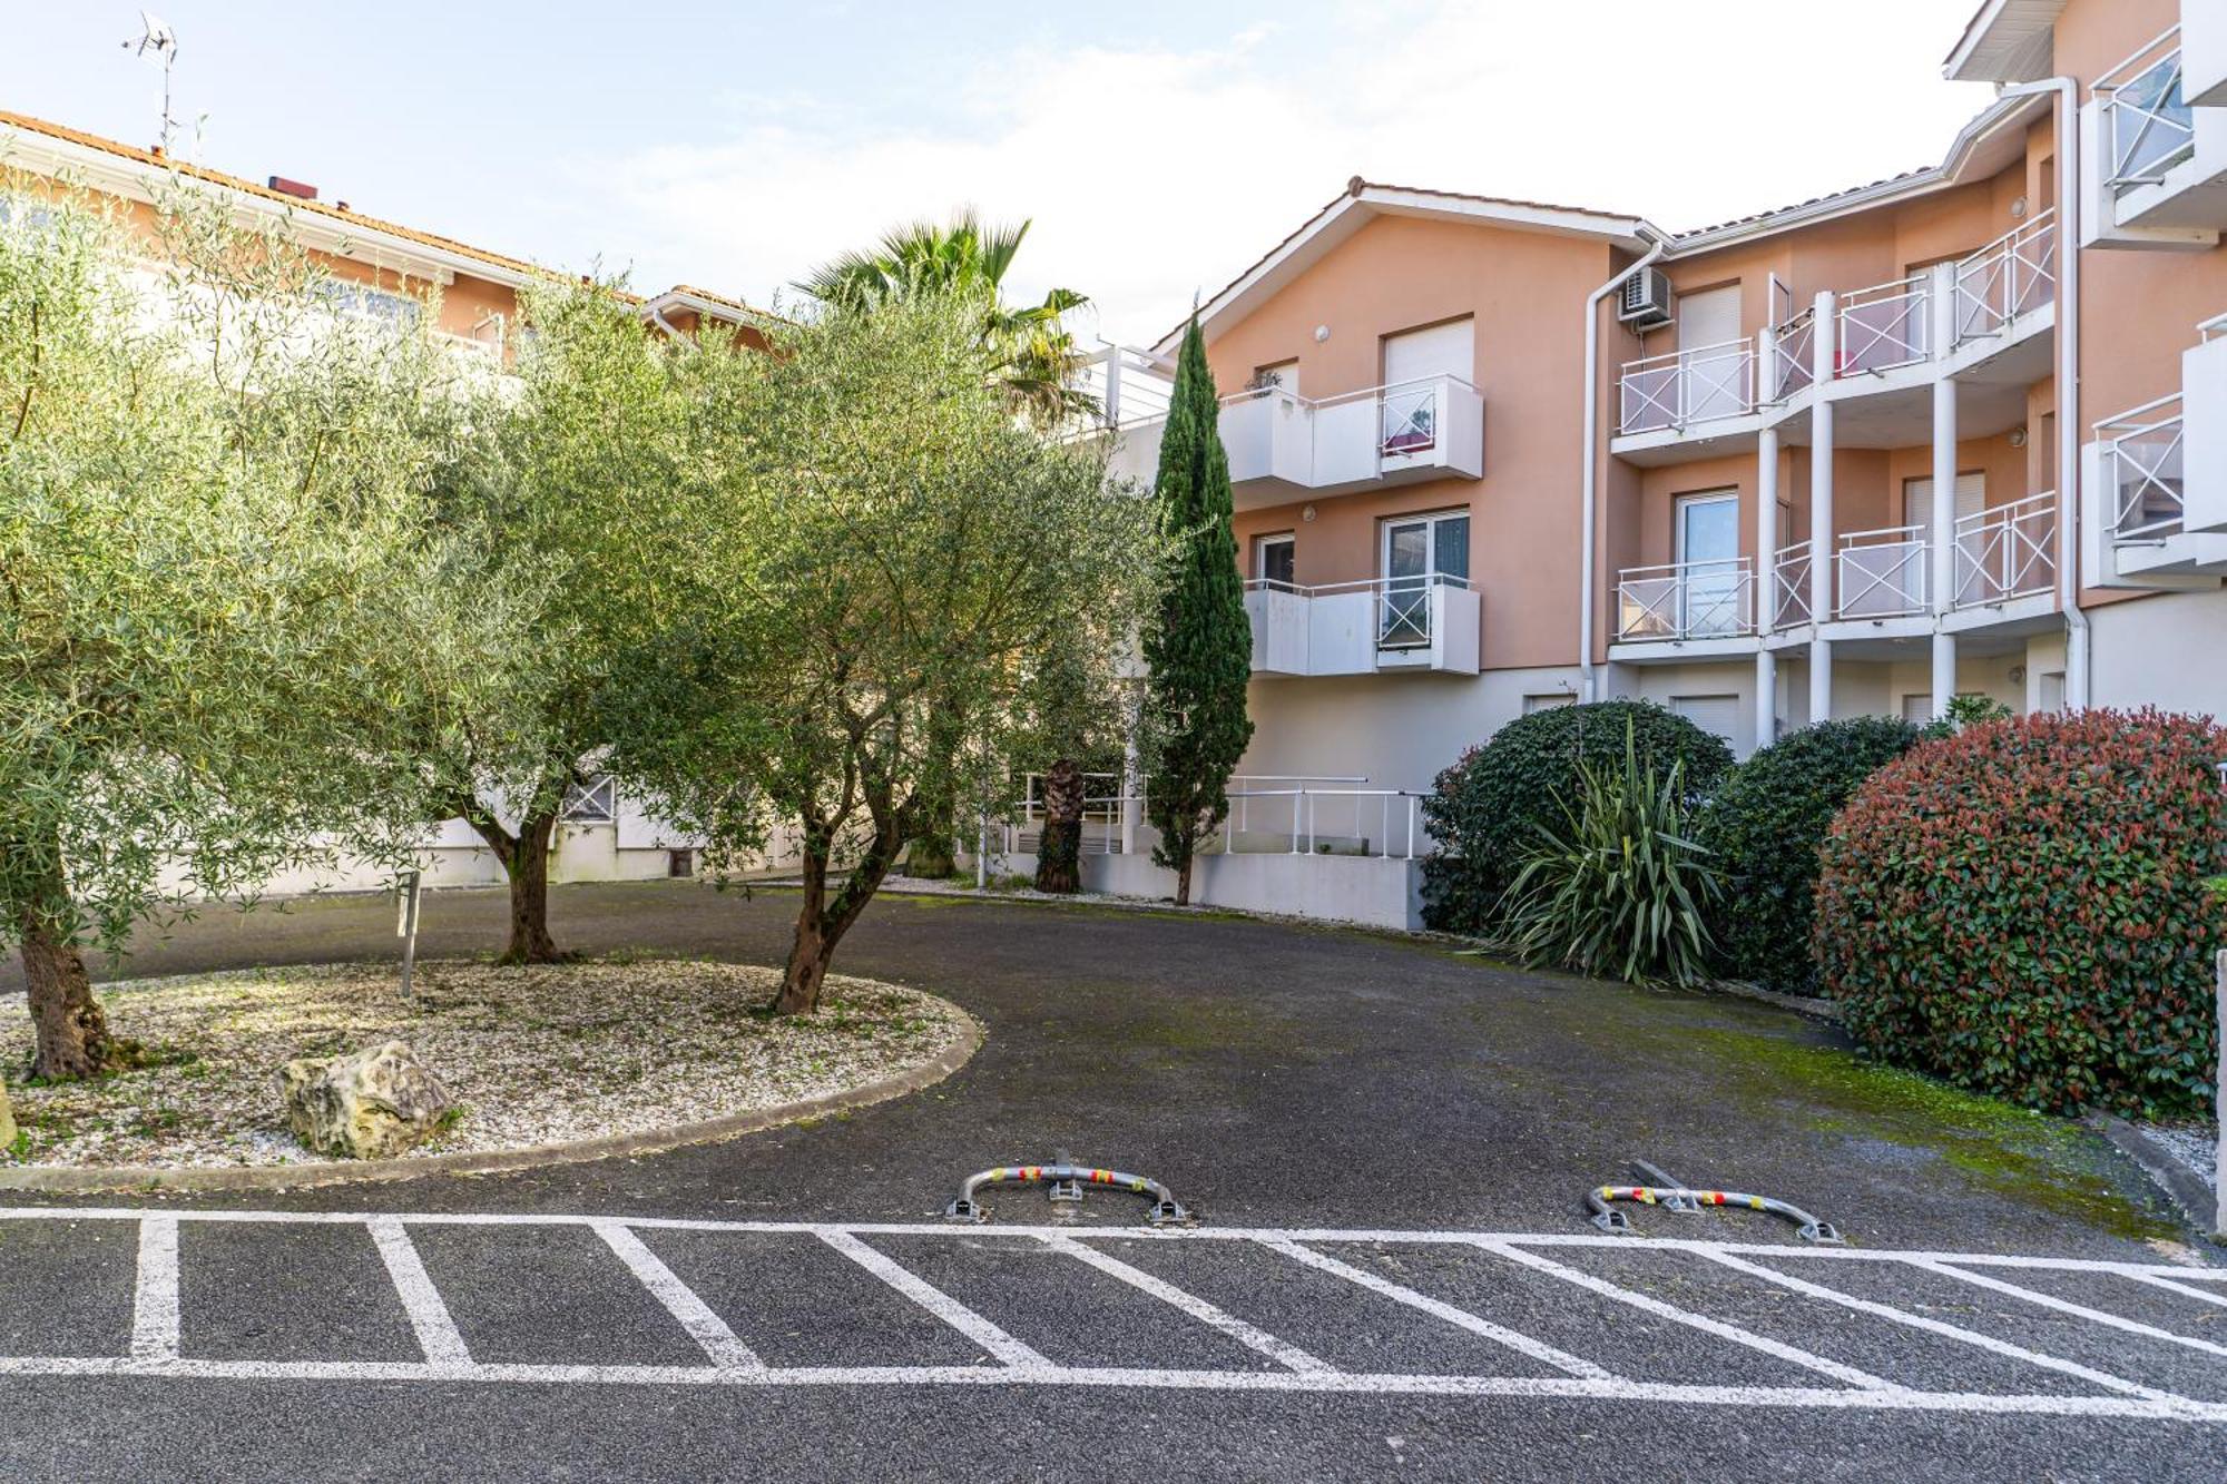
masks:
<path fill-rule="evenodd" d="M 915 221 L 882 236 L 873 250 L 822 263 L 795 287 L 820 303 L 855 312 L 918 294 L 980 296 L 991 374 L 1029 419 L 1040 426 L 1062 423 L 1096 412 L 1096 399 L 1076 385 L 1082 363 L 1076 336 L 1060 323 L 1089 299 L 1056 287 L 1036 305 L 1004 303 L 1000 287 L 1029 225 L 984 223 L 973 207 L 953 216 L 951 225 Z"/>

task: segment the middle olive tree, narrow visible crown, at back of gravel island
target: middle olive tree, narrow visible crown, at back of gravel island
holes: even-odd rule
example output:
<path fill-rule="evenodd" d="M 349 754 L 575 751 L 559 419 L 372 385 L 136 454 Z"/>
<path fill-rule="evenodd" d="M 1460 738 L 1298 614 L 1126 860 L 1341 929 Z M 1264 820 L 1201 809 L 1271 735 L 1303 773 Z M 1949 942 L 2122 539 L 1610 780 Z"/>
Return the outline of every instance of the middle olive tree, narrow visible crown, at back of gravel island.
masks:
<path fill-rule="evenodd" d="M 639 640 L 630 562 L 653 537 L 677 539 L 664 515 L 681 477 L 673 363 L 686 352 L 648 334 L 615 285 L 530 290 L 523 323 L 514 374 L 477 388 L 439 488 L 450 624 L 474 628 L 490 664 L 463 715 L 454 686 L 425 693 L 416 746 L 439 811 L 463 818 L 510 882 L 503 963 L 550 963 L 552 842 L 568 791 L 604 762 L 604 689 Z M 508 602 L 485 606 L 490 590 Z"/>

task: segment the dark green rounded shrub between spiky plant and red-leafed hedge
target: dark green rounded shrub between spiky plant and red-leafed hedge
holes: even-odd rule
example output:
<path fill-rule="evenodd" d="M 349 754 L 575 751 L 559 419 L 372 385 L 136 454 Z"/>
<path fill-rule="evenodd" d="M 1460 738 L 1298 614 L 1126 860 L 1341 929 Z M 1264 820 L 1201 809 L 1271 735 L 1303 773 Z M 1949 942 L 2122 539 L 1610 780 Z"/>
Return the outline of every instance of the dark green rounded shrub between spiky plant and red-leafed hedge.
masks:
<path fill-rule="evenodd" d="M 1733 769 L 1701 820 L 1701 842 L 1715 851 L 1726 887 L 1717 922 L 1726 974 L 1786 994 L 1815 992 L 1817 844 L 1855 787 L 1911 751 L 1917 735 L 1888 715 L 1819 722 Z"/>

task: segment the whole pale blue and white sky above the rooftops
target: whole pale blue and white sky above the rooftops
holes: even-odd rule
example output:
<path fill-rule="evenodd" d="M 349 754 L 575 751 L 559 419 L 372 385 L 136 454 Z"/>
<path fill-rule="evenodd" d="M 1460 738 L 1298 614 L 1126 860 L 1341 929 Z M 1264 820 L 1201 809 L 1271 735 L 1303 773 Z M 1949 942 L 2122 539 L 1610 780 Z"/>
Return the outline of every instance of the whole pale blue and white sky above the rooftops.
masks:
<path fill-rule="evenodd" d="M 178 152 L 775 307 L 960 205 L 1154 341 L 1365 176 L 1697 227 L 1940 163 L 1978 0 L 158 0 Z M 1862 25 L 1855 25 L 1857 9 Z M 156 140 L 138 9 L 0 0 L 0 109 Z"/>

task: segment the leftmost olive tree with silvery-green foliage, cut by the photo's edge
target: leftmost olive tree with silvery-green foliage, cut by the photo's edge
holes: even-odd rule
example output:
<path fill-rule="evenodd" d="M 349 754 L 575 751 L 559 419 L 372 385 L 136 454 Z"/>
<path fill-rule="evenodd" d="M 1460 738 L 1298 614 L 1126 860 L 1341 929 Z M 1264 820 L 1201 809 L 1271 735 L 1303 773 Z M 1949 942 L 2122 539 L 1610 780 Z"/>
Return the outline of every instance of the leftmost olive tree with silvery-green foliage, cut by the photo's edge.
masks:
<path fill-rule="evenodd" d="M 85 945 L 408 833 L 363 742 L 439 648 L 399 557 L 448 403 L 278 232 L 0 201 L 0 945 L 69 1078 L 134 1058 Z"/>

